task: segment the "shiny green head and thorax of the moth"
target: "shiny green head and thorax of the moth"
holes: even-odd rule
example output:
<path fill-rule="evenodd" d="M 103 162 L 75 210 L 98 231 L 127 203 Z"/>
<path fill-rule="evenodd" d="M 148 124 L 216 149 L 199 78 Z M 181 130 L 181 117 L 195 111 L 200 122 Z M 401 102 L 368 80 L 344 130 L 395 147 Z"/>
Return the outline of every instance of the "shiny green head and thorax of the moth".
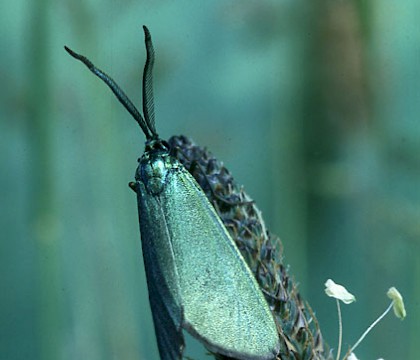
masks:
<path fill-rule="evenodd" d="M 148 140 L 136 170 L 136 181 L 143 183 L 150 194 L 157 195 L 165 186 L 168 173 L 178 166 L 178 161 L 169 154 L 166 142 Z"/>

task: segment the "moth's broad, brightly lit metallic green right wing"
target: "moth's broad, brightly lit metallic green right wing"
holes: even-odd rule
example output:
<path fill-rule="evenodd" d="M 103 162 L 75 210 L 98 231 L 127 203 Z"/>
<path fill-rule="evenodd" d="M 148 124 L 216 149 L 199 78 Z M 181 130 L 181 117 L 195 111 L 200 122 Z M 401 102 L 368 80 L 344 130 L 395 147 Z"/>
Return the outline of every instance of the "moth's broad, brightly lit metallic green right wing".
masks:
<path fill-rule="evenodd" d="M 183 327 L 213 352 L 273 359 L 280 345 L 271 311 L 201 188 L 183 167 L 173 169 L 160 199 L 179 275 Z"/>

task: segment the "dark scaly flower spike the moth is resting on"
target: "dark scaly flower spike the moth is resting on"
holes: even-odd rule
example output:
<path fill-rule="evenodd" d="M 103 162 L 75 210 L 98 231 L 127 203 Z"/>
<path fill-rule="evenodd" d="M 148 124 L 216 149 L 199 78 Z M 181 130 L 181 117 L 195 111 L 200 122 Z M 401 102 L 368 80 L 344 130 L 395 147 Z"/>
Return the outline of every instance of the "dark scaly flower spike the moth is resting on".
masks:
<path fill-rule="evenodd" d="M 283 264 L 282 244 L 222 162 L 185 136 L 168 141 L 195 178 L 254 273 L 279 325 L 281 359 L 329 359 L 318 322 Z M 222 359 L 223 357 L 218 357 Z"/>

